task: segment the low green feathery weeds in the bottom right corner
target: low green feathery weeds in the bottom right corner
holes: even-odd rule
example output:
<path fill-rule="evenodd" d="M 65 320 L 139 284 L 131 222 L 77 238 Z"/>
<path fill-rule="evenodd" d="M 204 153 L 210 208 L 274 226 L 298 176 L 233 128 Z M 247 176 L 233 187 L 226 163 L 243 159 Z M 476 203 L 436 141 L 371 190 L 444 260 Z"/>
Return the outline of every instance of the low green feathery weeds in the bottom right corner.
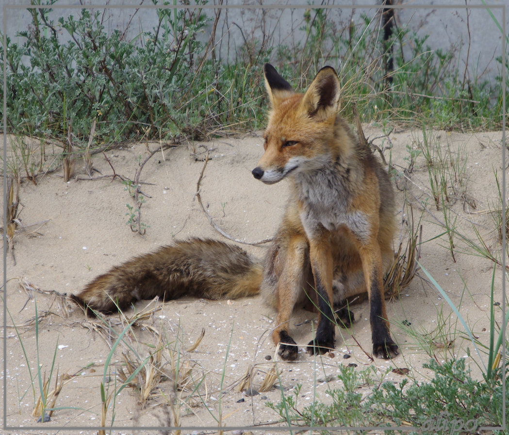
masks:
<path fill-rule="evenodd" d="M 327 391 L 332 401 L 316 401 L 300 406 L 301 386 L 290 394 L 281 392 L 278 403 L 267 407 L 279 414 L 288 426 L 380 427 L 386 433 L 436 433 L 440 424 L 445 430 L 461 421 L 464 428 L 500 425 L 502 385 L 500 381 L 477 381 L 470 376 L 465 360 L 451 359 L 440 364 L 434 360 L 423 364 L 432 374 L 429 382 L 373 382 L 372 369 L 360 372 L 340 366 L 340 388 Z M 368 372 L 367 375 L 365 372 Z M 365 384 L 368 379 L 370 383 Z M 449 427 L 444 427 L 449 425 Z M 465 426 L 468 424 L 468 426 Z M 451 426 L 453 425 L 453 426 Z M 390 430 L 391 426 L 406 426 L 405 431 Z M 438 426 L 437 426 L 438 427 Z M 412 429 L 415 428 L 415 429 Z M 322 430 L 321 433 L 335 433 Z"/>

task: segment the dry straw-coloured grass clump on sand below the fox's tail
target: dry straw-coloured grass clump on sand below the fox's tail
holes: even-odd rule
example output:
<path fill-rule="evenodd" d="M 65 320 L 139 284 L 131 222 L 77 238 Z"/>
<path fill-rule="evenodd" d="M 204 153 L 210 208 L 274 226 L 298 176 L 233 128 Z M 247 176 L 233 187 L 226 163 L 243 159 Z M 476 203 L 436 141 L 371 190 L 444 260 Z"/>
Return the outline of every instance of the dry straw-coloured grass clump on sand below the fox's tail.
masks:
<path fill-rule="evenodd" d="M 147 307 L 131 317 L 120 313 L 123 325 L 120 333 L 101 318 L 108 330 L 105 339 L 117 337 L 106 358 L 100 384 L 103 427 L 107 426 L 109 413 L 110 424 L 114 424 L 116 399 L 126 387 L 132 389 L 142 409 L 163 408 L 164 424 L 167 426 L 179 427 L 183 415 L 192 413 L 195 407 L 207 406 L 208 392 L 204 384 L 207 374 L 197 361 L 187 356 L 200 345 L 205 330 L 192 346 L 185 349 L 180 326 L 175 336 L 172 329 L 172 337 L 168 337 L 162 320 L 159 328 L 154 324 L 157 309 Z M 138 341 L 140 329 L 149 333 L 149 338 L 155 339 L 143 343 Z M 119 361 L 115 360 L 117 354 L 121 354 Z"/>

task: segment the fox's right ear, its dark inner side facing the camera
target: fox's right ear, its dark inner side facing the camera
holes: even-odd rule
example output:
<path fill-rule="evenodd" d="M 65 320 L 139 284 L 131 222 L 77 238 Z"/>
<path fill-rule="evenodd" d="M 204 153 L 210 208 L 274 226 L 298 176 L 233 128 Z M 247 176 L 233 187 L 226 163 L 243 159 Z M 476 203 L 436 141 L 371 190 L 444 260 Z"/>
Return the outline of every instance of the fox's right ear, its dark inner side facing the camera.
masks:
<path fill-rule="evenodd" d="M 309 116 L 325 120 L 335 116 L 340 106 L 340 80 L 331 67 L 322 68 L 309 85 L 302 105 Z"/>

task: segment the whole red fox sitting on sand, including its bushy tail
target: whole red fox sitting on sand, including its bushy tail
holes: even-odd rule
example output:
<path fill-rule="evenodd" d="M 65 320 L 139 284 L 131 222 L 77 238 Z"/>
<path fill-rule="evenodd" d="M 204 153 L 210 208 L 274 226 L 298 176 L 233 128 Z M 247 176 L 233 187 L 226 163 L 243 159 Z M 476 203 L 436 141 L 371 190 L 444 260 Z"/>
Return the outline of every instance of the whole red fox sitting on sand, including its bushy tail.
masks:
<path fill-rule="evenodd" d="M 318 308 L 310 354 L 334 348 L 334 306 L 367 291 L 373 353 L 399 353 L 389 334 L 383 274 L 394 260 L 394 194 L 387 172 L 338 115 L 340 81 L 320 70 L 304 94 L 264 66 L 271 110 L 265 152 L 252 174 L 264 183 L 284 178 L 291 194 L 263 262 L 239 247 L 191 239 L 136 257 L 97 277 L 72 299 L 111 312 L 139 299 L 183 295 L 210 299 L 262 293 L 277 308 L 272 333 L 284 360 L 295 360 L 290 336 L 295 305 Z"/>

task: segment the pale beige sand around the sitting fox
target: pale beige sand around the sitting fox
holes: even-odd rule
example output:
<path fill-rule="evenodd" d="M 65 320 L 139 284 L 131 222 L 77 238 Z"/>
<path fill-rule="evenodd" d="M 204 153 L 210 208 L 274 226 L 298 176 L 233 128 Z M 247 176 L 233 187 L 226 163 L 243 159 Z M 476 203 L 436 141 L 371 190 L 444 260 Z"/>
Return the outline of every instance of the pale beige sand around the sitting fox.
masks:
<path fill-rule="evenodd" d="M 494 263 L 473 255 L 465 240 L 479 244 L 475 228 L 491 252 L 500 253 L 492 212 L 499 207 L 495 171 L 500 177 L 502 134 L 429 133 L 440 143 L 444 156 L 448 148 L 452 150 L 456 159 L 449 167 L 457 165 L 460 174 L 454 189 L 454 183 L 450 183 L 452 205 L 450 212 L 444 214 L 435 207 L 423 157 L 417 157 L 409 170 L 409 150 L 422 142 L 422 132 L 392 129 L 387 137 L 379 126 L 366 125 L 364 133 L 380 148 L 390 147 L 384 150 L 384 156 L 399 172 L 394 175 L 398 188 L 395 219 L 403 241 L 408 234 L 411 204 L 415 225 L 422 225 L 419 261 L 460 307 L 473 334 L 488 343 Z M 351 363 L 358 370 L 373 367 L 375 377 L 399 383 L 404 376 L 426 380 L 429 374 L 422 364 L 431 357 L 439 362 L 466 358 L 472 376 L 480 377 L 479 367 L 486 364 L 486 355 L 479 357 L 475 353 L 463 326 L 422 271 L 399 299 L 387 302 L 392 336 L 401 348 L 401 354 L 393 360 L 369 357 L 371 334 L 366 301 L 353 306 L 357 320 L 351 329 L 337 330 L 335 352 L 321 357 L 309 356 L 303 349 L 313 336 L 316 314 L 297 309 L 292 317 L 292 335 L 301 345 L 299 359 L 284 362 L 278 360 L 270 339 L 275 313 L 259 296 L 224 301 L 183 298 L 163 304 L 137 303 L 136 313 L 148 314 L 128 328 L 122 336 L 124 342 L 115 347 L 105 369 L 115 333 L 124 330 L 135 310 L 105 316 L 104 320 L 90 319 L 61 295 L 79 291 L 95 276 L 133 255 L 174 240 L 226 240 L 210 225 L 196 198 L 206 149 L 209 161 L 199 192 L 213 222 L 240 241 L 271 237 L 284 210 L 288 187 L 285 181 L 264 185 L 252 177 L 251 170 L 263 152 L 262 144 L 260 133 L 164 150 L 160 147 L 166 144 L 128 143 L 94 154 L 92 179 L 81 159 L 76 161 L 75 174 L 68 182 L 60 168 L 38 176 L 37 185 L 23 179 L 15 257 L 7 253 L 7 390 L 3 391 L 7 398 L 7 426 L 40 427 L 31 433 L 69 433 L 71 428 L 81 428 L 72 433 L 97 433 L 92 428 L 101 423 L 101 383 L 108 381 L 104 384 L 106 395 L 118 390 L 122 384 L 117 376 L 121 367 L 128 371 L 125 358 L 139 365 L 157 348 L 157 337 L 167 345 L 157 372 L 162 378 L 143 403 L 136 386 L 110 396 L 106 425 L 111 425 L 114 418 L 114 426 L 125 427 L 114 433 L 165 433 L 156 427 L 172 425 L 195 427 L 183 433 L 202 433 L 205 427 L 217 427 L 219 420 L 228 427 L 262 425 L 263 433 L 274 433 L 263 429 L 279 421 L 279 416 L 266 407 L 267 402 L 279 402 L 281 391 L 292 394 L 298 384 L 302 384 L 299 406 L 311 403 L 315 395 L 327 402 L 330 396 L 326 390 L 342 386 L 337 380 L 340 366 Z M 128 183 L 121 177 L 133 180 L 140 163 L 157 149 L 139 174 L 139 190 L 144 196 L 140 216 L 146 226 L 145 234 L 140 235 L 126 225 L 130 217 L 127 205 L 134 209 L 136 206 Z M 51 158 L 47 167 L 50 165 Z M 113 170 L 116 177 L 112 176 Z M 444 234 L 446 220 L 465 237 L 456 235 L 453 239 L 456 261 Z M 400 234 L 394 240 L 395 249 L 399 241 Z M 242 247 L 257 257 L 266 250 L 266 244 Z M 495 295 L 496 301 L 502 302 L 500 268 Z M 205 335 L 201 343 L 188 351 L 202 330 Z M 57 370 L 59 382 L 65 381 L 55 401 L 58 409 L 46 423 L 37 423 L 37 417 L 32 415 L 40 395 L 38 364 L 41 374 L 51 376 L 50 390 Z M 408 368 L 409 374 L 390 371 L 397 367 Z M 238 386 L 251 368 L 256 390 L 270 369 L 276 369 L 280 376 L 268 391 L 249 396 Z M 183 379 L 187 369 L 190 375 Z M 175 382 L 176 370 L 179 382 Z M 173 409 L 168 403 L 174 403 Z M 68 429 L 57 429 L 60 427 Z M 7 433 L 25 432 L 13 429 Z"/>

